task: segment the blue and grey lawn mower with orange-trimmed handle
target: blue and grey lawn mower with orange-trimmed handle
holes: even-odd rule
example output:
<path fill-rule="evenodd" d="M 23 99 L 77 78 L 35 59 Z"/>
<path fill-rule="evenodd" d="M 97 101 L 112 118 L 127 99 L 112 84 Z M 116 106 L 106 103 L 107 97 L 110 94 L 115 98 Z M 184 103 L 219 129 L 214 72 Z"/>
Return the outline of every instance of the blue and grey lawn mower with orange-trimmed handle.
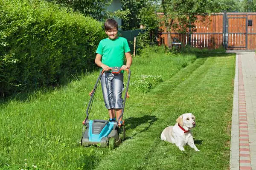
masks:
<path fill-rule="evenodd" d="M 112 74 L 119 74 L 122 70 L 120 67 L 112 67 L 110 68 Z M 125 109 L 125 100 L 129 98 L 128 95 L 128 87 L 130 82 L 130 69 L 126 69 L 128 74 L 128 80 L 126 85 L 125 96 L 123 99 L 123 108 L 122 113 L 117 118 L 116 121 L 109 120 L 88 120 L 90 110 L 93 105 L 93 99 L 96 92 L 97 87 L 100 84 L 100 79 L 104 70 L 99 74 L 99 77 L 94 85 L 93 90 L 89 93 L 90 101 L 86 109 L 86 118 L 83 121 L 83 130 L 82 130 L 82 138 L 81 138 L 81 146 L 90 146 L 97 145 L 100 147 L 109 147 L 110 150 L 114 149 L 118 146 L 122 141 L 125 140 L 125 123 L 122 121 L 121 125 L 118 125 L 119 119 L 121 119 L 124 109 Z M 121 122 L 121 121 L 120 121 Z"/>

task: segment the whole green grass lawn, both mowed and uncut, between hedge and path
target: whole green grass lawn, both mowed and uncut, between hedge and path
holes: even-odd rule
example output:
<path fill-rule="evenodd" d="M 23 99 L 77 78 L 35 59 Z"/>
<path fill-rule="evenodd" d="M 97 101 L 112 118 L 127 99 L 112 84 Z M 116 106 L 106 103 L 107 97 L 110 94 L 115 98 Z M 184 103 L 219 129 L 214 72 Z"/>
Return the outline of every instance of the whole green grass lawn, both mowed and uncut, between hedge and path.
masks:
<path fill-rule="evenodd" d="M 134 58 L 131 67 L 126 140 L 119 147 L 77 145 L 94 72 L 58 89 L 2 101 L 0 169 L 227 170 L 235 55 L 171 55 L 162 48 L 148 54 Z M 200 152 L 189 146 L 181 152 L 160 140 L 165 127 L 190 112 Z M 100 86 L 90 119 L 108 119 Z"/>

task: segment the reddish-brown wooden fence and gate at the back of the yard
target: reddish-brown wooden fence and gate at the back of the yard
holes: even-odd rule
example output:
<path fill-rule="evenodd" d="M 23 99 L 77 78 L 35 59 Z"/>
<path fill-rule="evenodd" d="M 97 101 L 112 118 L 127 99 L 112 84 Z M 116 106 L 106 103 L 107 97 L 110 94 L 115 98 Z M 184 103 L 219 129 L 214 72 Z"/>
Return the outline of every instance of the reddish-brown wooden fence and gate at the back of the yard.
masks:
<path fill-rule="evenodd" d="M 160 14 L 161 15 L 161 14 Z M 256 13 L 219 13 L 211 14 L 203 20 L 198 16 L 194 32 L 180 34 L 171 31 L 172 39 L 183 46 L 196 48 L 219 48 L 227 50 L 256 50 Z M 160 44 L 167 45 L 168 34 L 163 28 L 159 36 Z"/>

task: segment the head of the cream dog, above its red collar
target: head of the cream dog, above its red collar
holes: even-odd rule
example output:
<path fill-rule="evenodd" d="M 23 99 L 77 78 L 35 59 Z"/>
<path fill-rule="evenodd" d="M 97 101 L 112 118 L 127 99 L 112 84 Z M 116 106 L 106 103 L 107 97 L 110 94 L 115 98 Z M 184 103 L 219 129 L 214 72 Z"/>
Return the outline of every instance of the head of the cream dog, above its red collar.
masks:
<path fill-rule="evenodd" d="M 184 113 L 176 120 L 181 127 L 193 128 L 195 127 L 195 116 L 192 113 Z"/>

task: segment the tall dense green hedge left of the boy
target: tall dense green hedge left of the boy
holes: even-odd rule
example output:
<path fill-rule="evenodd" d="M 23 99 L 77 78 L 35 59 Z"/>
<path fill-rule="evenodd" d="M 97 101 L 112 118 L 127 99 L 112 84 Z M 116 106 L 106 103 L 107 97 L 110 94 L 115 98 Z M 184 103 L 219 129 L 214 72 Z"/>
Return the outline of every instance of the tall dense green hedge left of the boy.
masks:
<path fill-rule="evenodd" d="M 92 70 L 102 23 L 41 0 L 0 1 L 0 95 Z"/>

